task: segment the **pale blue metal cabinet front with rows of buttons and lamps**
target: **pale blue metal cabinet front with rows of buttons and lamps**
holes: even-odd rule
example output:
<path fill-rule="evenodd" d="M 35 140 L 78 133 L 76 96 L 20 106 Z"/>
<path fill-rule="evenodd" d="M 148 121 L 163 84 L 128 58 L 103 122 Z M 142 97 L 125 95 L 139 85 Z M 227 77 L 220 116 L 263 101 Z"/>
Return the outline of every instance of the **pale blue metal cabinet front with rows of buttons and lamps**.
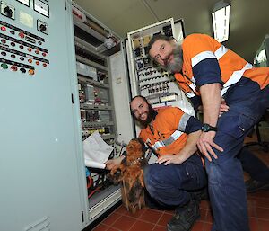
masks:
<path fill-rule="evenodd" d="M 0 21 L 0 230 L 82 230 L 71 1 L 5 0 Z"/>

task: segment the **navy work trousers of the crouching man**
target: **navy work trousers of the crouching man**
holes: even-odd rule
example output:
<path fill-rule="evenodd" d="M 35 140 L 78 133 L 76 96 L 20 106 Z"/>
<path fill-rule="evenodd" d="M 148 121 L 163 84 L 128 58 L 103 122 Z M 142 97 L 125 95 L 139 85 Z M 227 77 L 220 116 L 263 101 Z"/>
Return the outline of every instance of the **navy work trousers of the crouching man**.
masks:
<path fill-rule="evenodd" d="M 200 156 L 192 155 L 182 164 L 150 164 L 144 170 L 144 182 L 151 197 L 164 206 L 183 206 L 190 200 L 189 191 L 207 183 Z"/>

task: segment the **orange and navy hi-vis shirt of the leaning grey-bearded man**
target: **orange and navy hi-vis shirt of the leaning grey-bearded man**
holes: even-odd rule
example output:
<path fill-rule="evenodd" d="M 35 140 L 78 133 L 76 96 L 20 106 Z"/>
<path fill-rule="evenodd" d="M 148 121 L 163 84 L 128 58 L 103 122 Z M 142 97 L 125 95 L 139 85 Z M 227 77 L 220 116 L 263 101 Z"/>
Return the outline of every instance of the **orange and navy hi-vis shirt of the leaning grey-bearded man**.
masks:
<path fill-rule="evenodd" d="M 200 95 L 204 84 L 222 84 L 221 95 L 242 76 L 259 84 L 261 89 L 269 84 L 269 67 L 252 67 L 230 49 L 205 34 L 191 34 L 183 40 L 182 74 L 175 74 L 180 88 L 188 98 Z"/>

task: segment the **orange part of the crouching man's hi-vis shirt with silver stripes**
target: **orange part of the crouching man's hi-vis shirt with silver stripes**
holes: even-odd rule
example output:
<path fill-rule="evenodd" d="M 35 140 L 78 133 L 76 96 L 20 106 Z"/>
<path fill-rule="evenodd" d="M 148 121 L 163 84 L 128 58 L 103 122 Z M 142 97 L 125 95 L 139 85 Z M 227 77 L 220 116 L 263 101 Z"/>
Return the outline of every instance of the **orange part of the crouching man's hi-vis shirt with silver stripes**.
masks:
<path fill-rule="evenodd" d="M 142 129 L 139 137 L 152 147 L 158 155 L 178 154 L 187 141 L 186 129 L 190 116 L 179 108 L 159 109 L 152 122 Z"/>

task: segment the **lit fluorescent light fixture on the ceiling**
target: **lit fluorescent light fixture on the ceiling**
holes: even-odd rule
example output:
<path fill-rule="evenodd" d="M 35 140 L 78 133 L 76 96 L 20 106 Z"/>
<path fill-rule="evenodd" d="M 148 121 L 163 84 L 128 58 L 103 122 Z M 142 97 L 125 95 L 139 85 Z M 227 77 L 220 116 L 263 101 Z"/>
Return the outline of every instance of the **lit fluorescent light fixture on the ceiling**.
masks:
<path fill-rule="evenodd" d="M 230 4 L 224 1 L 215 4 L 212 13 L 214 38 L 219 42 L 229 38 Z"/>

